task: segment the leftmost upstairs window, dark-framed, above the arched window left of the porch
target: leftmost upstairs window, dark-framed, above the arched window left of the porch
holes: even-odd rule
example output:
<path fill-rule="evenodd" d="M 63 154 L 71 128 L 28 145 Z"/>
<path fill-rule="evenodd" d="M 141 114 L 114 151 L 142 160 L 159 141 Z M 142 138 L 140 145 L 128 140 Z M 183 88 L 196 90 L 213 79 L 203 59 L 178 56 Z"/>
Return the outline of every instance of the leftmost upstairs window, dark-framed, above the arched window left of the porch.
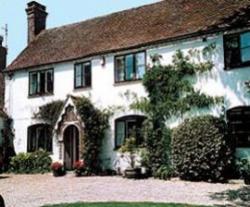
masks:
<path fill-rule="evenodd" d="M 29 95 L 52 94 L 54 88 L 53 69 L 29 73 Z"/>

